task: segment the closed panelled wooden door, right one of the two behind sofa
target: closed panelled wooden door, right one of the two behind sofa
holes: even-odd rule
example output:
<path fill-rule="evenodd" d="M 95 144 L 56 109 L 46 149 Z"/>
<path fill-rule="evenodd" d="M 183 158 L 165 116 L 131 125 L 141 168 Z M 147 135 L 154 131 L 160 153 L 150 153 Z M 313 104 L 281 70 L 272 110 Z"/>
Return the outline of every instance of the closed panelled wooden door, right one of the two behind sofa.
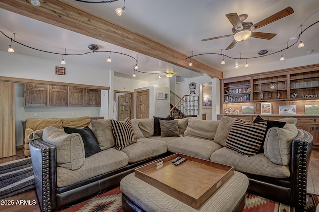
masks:
<path fill-rule="evenodd" d="M 150 113 L 150 90 L 136 92 L 136 118 L 149 118 Z"/>

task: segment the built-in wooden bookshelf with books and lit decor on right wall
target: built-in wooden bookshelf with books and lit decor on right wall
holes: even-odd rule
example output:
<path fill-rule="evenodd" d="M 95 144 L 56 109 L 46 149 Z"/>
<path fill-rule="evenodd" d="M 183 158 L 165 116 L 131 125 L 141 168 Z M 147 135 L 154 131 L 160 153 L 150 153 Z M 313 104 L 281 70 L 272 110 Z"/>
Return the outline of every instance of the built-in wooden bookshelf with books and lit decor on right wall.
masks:
<path fill-rule="evenodd" d="M 276 70 L 221 80 L 221 113 L 232 108 L 241 114 L 243 106 L 254 106 L 261 113 L 261 104 L 271 103 L 272 114 L 279 106 L 296 106 L 296 115 L 305 114 L 305 105 L 319 105 L 319 64 Z"/>

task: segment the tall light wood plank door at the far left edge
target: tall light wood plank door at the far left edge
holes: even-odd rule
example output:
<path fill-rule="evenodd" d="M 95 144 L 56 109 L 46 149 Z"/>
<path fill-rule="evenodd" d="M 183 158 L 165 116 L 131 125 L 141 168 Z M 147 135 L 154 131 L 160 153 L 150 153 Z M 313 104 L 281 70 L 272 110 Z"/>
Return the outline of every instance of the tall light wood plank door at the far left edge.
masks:
<path fill-rule="evenodd" d="M 0 158 L 15 155 L 14 83 L 0 81 Z"/>

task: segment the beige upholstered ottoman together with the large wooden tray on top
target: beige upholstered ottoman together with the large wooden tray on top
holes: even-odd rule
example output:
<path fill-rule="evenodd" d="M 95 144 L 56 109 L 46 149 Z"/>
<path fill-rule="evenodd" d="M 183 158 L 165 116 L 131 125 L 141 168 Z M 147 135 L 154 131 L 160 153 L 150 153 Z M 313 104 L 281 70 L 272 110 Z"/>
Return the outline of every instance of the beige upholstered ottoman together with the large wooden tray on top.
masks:
<path fill-rule="evenodd" d="M 171 160 L 179 155 L 187 161 L 175 166 Z M 248 178 L 233 167 L 176 154 L 136 169 L 120 188 L 124 211 L 232 211 L 245 205 Z"/>

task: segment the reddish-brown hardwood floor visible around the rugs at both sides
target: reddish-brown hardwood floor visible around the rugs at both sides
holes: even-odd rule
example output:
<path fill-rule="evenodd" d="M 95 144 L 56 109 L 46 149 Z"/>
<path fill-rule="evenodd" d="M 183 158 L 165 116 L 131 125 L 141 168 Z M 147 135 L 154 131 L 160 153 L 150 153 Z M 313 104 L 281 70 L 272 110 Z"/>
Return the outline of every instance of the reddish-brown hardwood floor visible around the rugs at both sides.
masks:
<path fill-rule="evenodd" d="M 5 163 L 12 160 L 24 158 L 22 149 L 17 149 L 15 156 L 8 158 L 1 158 L 0 163 Z M 307 193 L 319 195 L 319 149 L 313 149 L 310 157 L 308 177 L 307 177 Z M 19 205 L 17 201 L 26 200 L 30 204 Z M 32 205 L 32 201 L 35 200 L 36 204 Z M 9 205 L 8 203 L 14 203 Z M 24 201 L 25 202 L 25 201 Z M 3 203 L 3 204 L 2 204 Z M 0 212 L 40 212 L 40 207 L 34 190 L 24 192 L 22 194 L 15 195 L 13 197 L 2 199 L 0 202 Z"/>

